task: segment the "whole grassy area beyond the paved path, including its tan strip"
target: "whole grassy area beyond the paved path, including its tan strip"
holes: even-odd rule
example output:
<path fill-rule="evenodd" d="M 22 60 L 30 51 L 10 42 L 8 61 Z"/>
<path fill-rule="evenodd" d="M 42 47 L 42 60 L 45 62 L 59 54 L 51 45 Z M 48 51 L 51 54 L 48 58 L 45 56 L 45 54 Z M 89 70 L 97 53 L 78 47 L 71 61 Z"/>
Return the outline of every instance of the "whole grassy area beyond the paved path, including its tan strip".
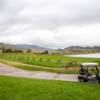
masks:
<path fill-rule="evenodd" d="M 64 55 L 43 55 L 31 53 L 5 53 L 0 62 L 29 71 L 47 71 L 55 73 L 77 74 L 82 62 L 97 62 L 99 58 L 66 57 Z"/>

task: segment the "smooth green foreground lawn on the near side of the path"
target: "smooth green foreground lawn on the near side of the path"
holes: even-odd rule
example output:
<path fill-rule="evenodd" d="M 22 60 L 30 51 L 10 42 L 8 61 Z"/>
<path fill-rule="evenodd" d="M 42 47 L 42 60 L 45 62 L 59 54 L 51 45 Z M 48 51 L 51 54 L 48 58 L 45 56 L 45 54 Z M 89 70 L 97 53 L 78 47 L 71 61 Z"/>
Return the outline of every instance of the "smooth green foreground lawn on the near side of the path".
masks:
<path fill-rule="evenodd" d="M 100 84 L 0 76 L 0 100 L 100 100 Z"/>

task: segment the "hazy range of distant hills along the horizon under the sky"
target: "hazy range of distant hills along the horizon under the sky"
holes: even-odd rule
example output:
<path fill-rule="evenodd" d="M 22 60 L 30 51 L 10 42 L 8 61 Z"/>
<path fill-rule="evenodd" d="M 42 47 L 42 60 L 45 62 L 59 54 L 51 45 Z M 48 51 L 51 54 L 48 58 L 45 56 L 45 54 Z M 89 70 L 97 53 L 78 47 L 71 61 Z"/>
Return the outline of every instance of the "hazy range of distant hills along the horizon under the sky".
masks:
<path fill-rule="evenodd" d="M 35 51 L 42 51 L 42 50 L 49 50 L 50 52 L 60 52 L 61 54 L 82 54 L 82 53 L 97 53 L 100 52 L 100 46 L 92 46 L 92 47 L 82 47 L 82 46 L 70 46 L 64 49 L 50 49 L 50 48 L 44 48 L 37 45 L 28 45 L 28 44 L 6 44 L 6 43 L 0 43 L 0 48 L 5 49 L 19 49 L 19 50 L 25 50 L 25 49 L 32 49 Z"/>

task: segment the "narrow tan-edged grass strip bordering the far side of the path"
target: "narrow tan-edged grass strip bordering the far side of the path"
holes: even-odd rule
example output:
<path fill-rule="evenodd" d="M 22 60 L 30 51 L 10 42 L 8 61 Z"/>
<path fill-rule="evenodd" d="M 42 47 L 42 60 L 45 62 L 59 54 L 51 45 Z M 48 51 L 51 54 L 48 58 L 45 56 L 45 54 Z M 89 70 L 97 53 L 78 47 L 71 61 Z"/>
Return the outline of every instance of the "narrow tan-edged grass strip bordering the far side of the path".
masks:
<path fill-rule="evenodd" d="M 59 73 L 59 74 L 78 74 L 79 71 L 77 70 L 70 70 L 65 68 L 49 68 L 49 67 L 42 67 L 42 66 L 36 66 L 36 65 L 29 65 L 29 64 L 23 64 L 13 61 L 7 61 L 7 60 L 0 60 L 1 63 L 28 70 L 28 71 L 46 71 L 46 72 L 53 72 L 53 73 Z"/>

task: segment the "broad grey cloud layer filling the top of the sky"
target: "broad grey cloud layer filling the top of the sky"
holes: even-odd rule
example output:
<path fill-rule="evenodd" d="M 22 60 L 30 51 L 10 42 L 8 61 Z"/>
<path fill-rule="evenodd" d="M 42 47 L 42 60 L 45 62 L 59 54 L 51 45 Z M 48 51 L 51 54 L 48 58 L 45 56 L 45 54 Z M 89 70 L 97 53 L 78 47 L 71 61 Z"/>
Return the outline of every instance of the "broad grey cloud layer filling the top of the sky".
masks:
<path fill-rule="evenodd" d="M 100 21 L 99 0 L 3 0 L 0 23 L 57 27 Z"/>

